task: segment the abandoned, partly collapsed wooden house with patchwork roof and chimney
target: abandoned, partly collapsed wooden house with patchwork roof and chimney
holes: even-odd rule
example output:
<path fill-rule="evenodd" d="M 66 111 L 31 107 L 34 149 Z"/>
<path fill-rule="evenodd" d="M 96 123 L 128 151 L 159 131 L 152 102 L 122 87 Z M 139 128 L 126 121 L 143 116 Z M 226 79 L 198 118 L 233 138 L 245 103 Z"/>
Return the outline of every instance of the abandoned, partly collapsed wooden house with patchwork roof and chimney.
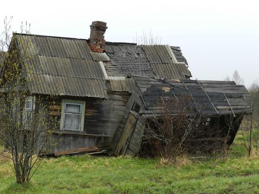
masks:
<path fill-rule="evenodd" d="M 97 146 L 115 155 L 137 155 L 146 119 L 162 95 L 189 95 L 190 106 L 204 107 L 201 114 L 210 122 L 249 111 L 244 86 L 190 80 L 179 47 L 106 42 L 106 23 L 100 21 L 90 29 L 89 39 L 16 34 L 31 42 L 31 93 L 57 95 L 49 112 L 60 121 L 52 153 Z"/>

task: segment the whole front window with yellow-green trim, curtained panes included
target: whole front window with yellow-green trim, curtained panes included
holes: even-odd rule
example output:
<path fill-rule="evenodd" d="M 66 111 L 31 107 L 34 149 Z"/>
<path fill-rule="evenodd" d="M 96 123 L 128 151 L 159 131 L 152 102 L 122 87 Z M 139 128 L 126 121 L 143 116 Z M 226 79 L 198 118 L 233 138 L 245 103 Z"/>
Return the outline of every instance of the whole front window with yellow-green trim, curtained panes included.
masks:
<path fill-rule="evenodd" d="M 62 100 L 61 130 L 84 130 L 85 101 Z"/>

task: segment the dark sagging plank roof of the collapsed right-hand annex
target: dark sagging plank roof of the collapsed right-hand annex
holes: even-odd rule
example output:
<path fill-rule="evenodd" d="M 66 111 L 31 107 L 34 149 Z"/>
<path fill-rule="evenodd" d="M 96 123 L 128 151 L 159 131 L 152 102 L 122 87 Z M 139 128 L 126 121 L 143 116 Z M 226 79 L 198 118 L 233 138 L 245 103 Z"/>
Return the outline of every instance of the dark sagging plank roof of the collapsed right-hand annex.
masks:
<path fill-rule="evenodd" d="M 189 107 L 200 111 L 203 115 L 248 113 L 250 107 L 245 102 L 248 91 L 243 85 L 234 81 L 194 81 L 194 80 L 161 80 L 134 76 L 142 93 L 146 113 L 157 110 L 157 97 L 173 100 L 183 96 L 191 96 Z"/>

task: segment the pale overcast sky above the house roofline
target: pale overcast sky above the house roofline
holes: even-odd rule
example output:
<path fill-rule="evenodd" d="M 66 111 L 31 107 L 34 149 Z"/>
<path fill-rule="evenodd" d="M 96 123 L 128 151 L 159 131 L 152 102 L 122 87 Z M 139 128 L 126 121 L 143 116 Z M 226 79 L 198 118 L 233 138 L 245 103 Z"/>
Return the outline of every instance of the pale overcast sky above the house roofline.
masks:
<path fill-rule="evenodd" d="M 224 80 L 238 70 L 245 85 L 259 77 L 257 0 L 4 0 L 3 18 L 14 16 L 31 33 L 88 38 L 92 21 L 107 22 L 106 41 L 133 42 L 149 32 L 162 44 L 179 46 L 193 79 Z"/>

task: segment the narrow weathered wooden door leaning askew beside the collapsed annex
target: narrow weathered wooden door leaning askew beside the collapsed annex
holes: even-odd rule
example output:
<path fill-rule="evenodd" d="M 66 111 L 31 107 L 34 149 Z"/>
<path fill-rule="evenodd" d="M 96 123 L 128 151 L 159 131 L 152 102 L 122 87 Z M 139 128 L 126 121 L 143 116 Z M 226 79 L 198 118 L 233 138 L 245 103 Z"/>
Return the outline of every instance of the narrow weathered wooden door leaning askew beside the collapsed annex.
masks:
<path fill-rule="evenodd" d="M 114 153 L 118 156 L 121 154 L 121 149 L 125 146 L 127 139 L 129 138 L 130 132 L 134 130 L 136 123 L 136 115 L 132 112 L 129 113 L 127 121 L 121 133 L 120 140 L 116 146 Z"/>

